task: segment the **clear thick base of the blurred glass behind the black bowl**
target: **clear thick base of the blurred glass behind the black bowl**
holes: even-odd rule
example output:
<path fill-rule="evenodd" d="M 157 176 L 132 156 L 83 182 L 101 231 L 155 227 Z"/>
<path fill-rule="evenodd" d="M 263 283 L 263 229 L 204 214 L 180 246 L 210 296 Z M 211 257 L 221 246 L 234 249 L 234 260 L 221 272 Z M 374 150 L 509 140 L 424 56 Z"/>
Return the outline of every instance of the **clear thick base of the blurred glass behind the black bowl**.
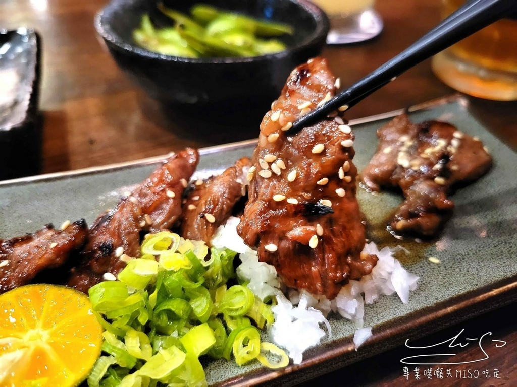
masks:
<path fill-rule="evenodd" d="M 374 9 L 366 9 L 346 16 L 330 18 L 327 44 L 352 44 L 375 38 L 381 33 L 384 23 Z"/>

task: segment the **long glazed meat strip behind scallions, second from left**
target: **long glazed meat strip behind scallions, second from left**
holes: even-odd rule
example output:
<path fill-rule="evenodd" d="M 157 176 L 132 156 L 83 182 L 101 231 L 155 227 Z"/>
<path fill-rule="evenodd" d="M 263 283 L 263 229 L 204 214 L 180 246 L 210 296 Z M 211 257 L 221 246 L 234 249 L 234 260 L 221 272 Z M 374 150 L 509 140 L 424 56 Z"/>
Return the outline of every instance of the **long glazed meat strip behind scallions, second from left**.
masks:
<path fill-rule="evenodd" d="M 97 218 L 88 231 L 89 241 L 81 265 L 72 269 L 69 286 L 82 292 L 105 279 L 113 279 L 130 257 L 140 256 L 140 232 L 169 228 L 181 215 L 181 197 L 199 162 L 187 148 L 166 160 L 131 196 Z"/>

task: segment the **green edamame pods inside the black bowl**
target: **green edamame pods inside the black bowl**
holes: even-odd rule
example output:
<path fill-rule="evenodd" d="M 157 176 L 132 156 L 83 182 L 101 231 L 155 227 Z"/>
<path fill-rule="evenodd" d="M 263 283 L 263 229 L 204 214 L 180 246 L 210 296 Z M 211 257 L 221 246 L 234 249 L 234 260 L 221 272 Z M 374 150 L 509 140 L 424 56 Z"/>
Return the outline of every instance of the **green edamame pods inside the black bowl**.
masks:
<path fill-rule="evenodd" d="M 155 28 L 149 15 L 133 31 L 133 39 L 147 50 L 187 58 L 253 57 L 284 51 L 275 39 L 292 35 L 290 25 L 257 20 L 246 15 L 197 4 L 187 15 L 158 4 L 158 9 L 174 21 L 173 27 Z"/>

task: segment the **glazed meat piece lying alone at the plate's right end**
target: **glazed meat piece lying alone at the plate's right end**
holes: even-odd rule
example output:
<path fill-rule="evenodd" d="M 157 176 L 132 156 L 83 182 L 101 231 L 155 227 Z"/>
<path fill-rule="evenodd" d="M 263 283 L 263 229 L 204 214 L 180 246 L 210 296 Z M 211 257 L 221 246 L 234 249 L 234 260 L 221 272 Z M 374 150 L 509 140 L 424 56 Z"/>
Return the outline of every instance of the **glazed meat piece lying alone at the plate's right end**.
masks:
<path fill-rule="evenodd" d="M 413 124 L 396 117 L 377 131 L 377 152 L 364 169 L 366 187 L 402 189 L 405 200 L 389 223 L 393 234 L 436 235 L 451 217 L 448 195 L 489 171 L 492 158 L 478 138 L 444 122 Z"/>

